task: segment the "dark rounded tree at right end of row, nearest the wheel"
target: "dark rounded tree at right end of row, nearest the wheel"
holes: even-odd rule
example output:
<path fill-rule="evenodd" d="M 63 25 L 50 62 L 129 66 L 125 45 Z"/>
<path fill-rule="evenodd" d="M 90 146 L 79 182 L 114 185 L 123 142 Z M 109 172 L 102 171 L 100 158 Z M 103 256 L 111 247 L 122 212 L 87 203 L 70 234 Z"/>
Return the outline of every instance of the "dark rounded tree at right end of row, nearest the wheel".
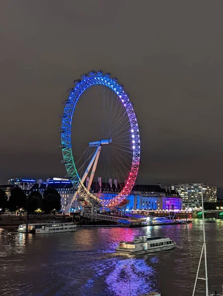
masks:
<path fill-rule="evenodd" d="M 50 213 L 54 209 L 58 212 L 61 209 L 60 199 L 61 196 L 55 188 L 47 188 L 44 191 L 44 198 L 42 200 L 45 213 Z"/>

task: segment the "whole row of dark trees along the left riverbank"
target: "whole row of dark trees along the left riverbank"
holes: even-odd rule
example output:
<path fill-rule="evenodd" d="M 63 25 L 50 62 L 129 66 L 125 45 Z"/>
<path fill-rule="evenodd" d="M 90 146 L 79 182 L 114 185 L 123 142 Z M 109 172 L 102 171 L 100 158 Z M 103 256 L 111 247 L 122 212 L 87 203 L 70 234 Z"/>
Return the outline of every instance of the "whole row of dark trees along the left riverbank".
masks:
<path fill-rule="evenodd" d="M 46 188 L 43 195 L 40 191 L 32 191 L 28 197 L 21 188 L 15 187 L 11 190 L 9 199 L 6 193 L 0 189 L 0 209 L 2 212 L 6 209 L 15 212 L 22 208 L 27 213 L 41 210 L 48 214 L 52 211 L 60 211 L 60 198 L 59 192 L 52 187 Z"/>

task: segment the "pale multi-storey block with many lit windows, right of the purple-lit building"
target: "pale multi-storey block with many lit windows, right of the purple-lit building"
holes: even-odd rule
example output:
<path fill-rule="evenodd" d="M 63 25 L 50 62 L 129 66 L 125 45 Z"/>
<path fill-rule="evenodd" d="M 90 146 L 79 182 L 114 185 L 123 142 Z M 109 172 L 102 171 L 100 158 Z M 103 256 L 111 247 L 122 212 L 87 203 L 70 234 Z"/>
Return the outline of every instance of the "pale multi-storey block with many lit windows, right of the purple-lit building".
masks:
<path fill-rule="evenodd" d="M 184 209 L 199 209 L 202 205 L 202 193 L 204 202 L 217 202 L 217 187 L 209 184 L 179 183 L 171 188 L 181 196 Z"/>

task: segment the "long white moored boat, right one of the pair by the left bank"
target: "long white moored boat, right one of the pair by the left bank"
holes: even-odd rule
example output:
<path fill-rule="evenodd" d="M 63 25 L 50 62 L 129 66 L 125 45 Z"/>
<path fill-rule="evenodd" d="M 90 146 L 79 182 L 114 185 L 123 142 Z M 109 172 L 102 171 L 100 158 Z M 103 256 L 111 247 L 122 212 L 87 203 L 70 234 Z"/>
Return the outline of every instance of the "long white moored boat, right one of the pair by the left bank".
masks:
<path fill-rule="evenodd" d="M 41 228 L 36 229 L 36 234 L 44 233 L 58 233 L 58 232 L 70 232 L 77 231 L 77 225 L 73 222 L 70 223 L 52 223 L 43 225 Z"/>

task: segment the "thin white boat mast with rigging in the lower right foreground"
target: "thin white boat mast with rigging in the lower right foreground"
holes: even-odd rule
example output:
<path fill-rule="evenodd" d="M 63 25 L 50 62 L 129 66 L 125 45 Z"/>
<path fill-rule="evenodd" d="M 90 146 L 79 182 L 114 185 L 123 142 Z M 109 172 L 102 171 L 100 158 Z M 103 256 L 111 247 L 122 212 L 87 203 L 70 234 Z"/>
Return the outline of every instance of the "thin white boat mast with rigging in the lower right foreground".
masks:
<path fill-rule="evenodd" d="M 207 268 L 207 249 L 206 249 L 205 225 L 204 225 L 203 187 L 201 187 L 201 201 L 202 201 L 202 220 L 203 220 L 203 246 L 202 246 L 201 256 L 200 256 L 199 265 L 198 265 L 198 269 L 197 269 L 197 275 L 196 275 L 196 280 L 195 280 L 194 289 L 193 289 L 193 296 L 195 293 L 196 284 L 197 284 L 198 279 L 205 281 L 205 284 L 206 284 L 206 294 L 205 295 L 208 296 L 208 268 Z M 204 253 L 204 263 L 205 263 L 205 278 L 200 278 L 200 277 L 198 277 L 198 274 L 199 274 L 199 269 L 200 269 L 203 253 Z"/>

